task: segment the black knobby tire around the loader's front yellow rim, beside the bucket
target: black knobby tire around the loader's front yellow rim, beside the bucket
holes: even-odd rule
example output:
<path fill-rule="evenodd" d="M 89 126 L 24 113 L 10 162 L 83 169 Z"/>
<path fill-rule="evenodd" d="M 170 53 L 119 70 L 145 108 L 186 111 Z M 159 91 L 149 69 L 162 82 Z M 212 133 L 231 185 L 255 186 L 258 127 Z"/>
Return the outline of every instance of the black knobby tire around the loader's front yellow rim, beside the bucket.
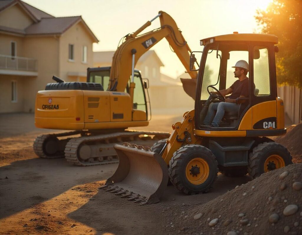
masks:
<path fill-rule="evenodd" d="M 194 158 L 202 158 L 209 167 L 209 175 L 201 184 L 192 184 L 186 176 L 187 165 Z M 185 194 L 207 193 L 217 179 L 217 165 L 210 149 L 201 145 L 185 145 L 173 154 L 169 162 L 169 178 L 175 188 Z"/>

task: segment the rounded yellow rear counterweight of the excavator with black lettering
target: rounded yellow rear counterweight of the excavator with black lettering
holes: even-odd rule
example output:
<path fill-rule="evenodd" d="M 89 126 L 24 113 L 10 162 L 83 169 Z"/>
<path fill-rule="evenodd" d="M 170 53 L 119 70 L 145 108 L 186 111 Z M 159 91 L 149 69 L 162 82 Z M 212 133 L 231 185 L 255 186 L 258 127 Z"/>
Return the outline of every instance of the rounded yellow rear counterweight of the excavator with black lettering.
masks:
<path fill-rule="evenodd" d="M 38 128 L 82 130 L 82 90 L 44 90 L 36 96 L 35 125 Z"/>

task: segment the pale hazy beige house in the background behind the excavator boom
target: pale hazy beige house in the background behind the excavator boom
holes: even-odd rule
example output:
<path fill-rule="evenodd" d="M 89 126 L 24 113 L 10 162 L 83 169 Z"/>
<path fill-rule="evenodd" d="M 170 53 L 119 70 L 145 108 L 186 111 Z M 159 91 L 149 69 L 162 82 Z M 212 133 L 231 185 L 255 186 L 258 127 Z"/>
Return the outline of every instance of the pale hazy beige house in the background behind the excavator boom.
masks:
<path fill-rule="evenodd" d="M 111 66 L 114 51 L 93 52 L 93 66 Z M 155 51 L 147 51 L 137 61 L 135 68 L 141 71 L 143 78 L 149 79 L 149 96 L 154 113 L 179 113 L 194 109 L 194 100 L 182 89 L 180 79 L 173 79 L 160 72 L 164 66 Z M 186 76 L 187 74 L 185 74 Z M 189 78 L 189 77 L 188 77 Z M 170 110 L 167 110 L 170 109 Z"/>

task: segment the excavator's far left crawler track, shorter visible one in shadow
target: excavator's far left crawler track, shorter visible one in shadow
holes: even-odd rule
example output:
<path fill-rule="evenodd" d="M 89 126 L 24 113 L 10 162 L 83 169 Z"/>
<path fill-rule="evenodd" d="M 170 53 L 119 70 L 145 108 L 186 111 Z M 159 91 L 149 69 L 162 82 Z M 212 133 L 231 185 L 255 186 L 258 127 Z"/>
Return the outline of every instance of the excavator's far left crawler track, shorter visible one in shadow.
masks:
<path fill-rule="evenodd" d="M 82 131 L 39 135 L 33 144 L 34 152 L 40 158 L 64 158 L 65 144 L 69 139 L 59 140 L 57 137 L 77 135 L 80 133 L 82 133 Z"/>

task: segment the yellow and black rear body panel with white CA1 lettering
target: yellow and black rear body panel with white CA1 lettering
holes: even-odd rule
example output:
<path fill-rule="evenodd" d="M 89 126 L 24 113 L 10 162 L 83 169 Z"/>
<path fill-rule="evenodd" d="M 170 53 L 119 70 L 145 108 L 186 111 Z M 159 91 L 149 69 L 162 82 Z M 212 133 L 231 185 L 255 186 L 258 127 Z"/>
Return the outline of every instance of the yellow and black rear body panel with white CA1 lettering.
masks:
<path fill-rule="evenodd" d="M 252 106 L 253 129 L 276 129 L 277 102 L 266 101 Z M 279 128 L 278 128 L 279 129 Z"/>

